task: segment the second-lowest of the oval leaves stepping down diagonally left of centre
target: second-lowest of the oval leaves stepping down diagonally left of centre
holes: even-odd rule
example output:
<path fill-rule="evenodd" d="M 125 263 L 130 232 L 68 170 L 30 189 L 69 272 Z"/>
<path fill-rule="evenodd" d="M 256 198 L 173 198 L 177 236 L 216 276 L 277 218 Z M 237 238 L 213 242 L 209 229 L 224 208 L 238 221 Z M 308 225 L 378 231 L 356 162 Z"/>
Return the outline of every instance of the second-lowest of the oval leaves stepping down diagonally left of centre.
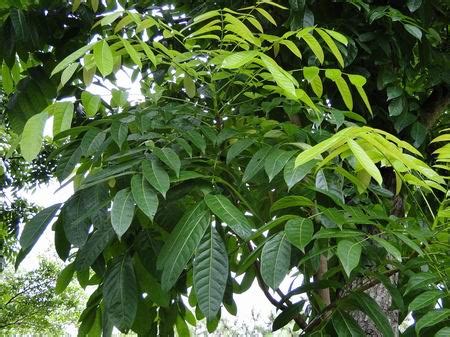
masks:
<path fill-rule="evenodd" d="M 131 178 L 131 192 L 136 205 L 145 213 L 151 220 L 155 217 L 158 209 L 158 196 L 150 187 L 147 180 L 135 175 Z"/>

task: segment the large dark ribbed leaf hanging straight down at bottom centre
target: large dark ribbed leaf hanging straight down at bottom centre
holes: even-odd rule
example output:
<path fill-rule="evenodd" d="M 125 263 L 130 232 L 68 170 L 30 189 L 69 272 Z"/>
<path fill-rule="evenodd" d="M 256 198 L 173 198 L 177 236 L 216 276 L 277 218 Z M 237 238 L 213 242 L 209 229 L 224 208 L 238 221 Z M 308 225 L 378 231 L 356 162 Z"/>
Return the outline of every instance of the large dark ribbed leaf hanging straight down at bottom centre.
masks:
<path fill-rule="evenodd" d="M 214 227 L 207 230 L 194 258 L 194 289 L 200 310 L 208 320 L 220 310 L 228 278 L 228 255 Z"/>

